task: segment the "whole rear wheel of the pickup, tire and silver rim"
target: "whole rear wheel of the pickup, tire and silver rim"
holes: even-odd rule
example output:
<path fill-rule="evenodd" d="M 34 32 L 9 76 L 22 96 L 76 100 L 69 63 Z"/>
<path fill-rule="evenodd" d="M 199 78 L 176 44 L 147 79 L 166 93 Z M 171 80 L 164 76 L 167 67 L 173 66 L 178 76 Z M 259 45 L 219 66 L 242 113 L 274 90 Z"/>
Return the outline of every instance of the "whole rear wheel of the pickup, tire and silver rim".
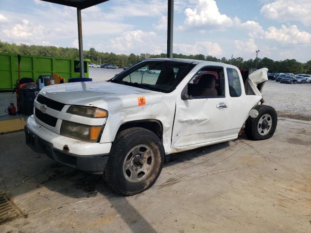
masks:
<path fill-rule="evenodd" d="M 277 115 L 276 110 L 268 105 L 257 105 L 254 109 L 258 116 L 251 116 L 245 122 L 245 133 L 252 140 L 264 140 L 273 136 L 276 131 Z"/>

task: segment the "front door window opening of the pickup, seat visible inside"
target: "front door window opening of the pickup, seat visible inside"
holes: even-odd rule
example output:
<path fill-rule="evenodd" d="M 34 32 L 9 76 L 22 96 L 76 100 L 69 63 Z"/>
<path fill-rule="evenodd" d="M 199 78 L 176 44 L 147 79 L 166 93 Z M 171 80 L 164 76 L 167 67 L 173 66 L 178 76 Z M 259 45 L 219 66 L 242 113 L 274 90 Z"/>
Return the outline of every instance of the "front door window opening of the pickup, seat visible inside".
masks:
<path fill-rule="evenodd" d="M 224 71 L 220 67 L 204 67 L 188 83 L 188 95 L 195 99 L 225 96 Z"/>

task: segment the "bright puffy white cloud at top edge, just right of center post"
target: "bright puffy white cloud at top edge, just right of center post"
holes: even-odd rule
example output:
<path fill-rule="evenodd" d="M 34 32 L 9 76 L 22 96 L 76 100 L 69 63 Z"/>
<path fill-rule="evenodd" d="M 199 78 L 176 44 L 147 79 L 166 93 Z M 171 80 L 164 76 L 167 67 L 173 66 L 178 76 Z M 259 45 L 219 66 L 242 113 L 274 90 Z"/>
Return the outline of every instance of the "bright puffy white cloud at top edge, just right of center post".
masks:
<path fill-rule="evenodd" d="M 198 0 L 194 9 L 187 8 L 185 10 L 185 15 L 184 24 L 187 26 L 225 28 L 239 21 L 237 17 L 230 18 L 225 14 L 221 14 L 215 0 Z"/>

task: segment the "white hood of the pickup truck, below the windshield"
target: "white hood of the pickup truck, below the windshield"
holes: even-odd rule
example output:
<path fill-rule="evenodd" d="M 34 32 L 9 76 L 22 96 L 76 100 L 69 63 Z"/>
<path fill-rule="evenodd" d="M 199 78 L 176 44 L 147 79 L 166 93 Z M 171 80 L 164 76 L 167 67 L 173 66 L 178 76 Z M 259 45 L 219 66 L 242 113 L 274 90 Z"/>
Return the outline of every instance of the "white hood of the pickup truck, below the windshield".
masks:
<path fill-rule="evenodd" d="M 163 96 L 161 92 L 105 81 L 51 85 L 42 88 L 40 94 L 65 104 L 96 107 L 106 107 L 107 102 Z"/>

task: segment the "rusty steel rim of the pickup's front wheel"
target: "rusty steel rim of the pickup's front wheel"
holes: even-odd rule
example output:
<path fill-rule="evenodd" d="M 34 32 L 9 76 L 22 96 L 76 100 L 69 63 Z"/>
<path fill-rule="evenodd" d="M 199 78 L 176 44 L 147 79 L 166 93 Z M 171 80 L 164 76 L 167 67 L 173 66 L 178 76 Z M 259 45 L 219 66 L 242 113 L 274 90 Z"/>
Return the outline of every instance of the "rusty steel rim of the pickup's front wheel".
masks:
<path fill-rule="evenodd" d="M 122 166 L 124 178 L 131 183 L 145 180 L 155 165 L 155 153 L 145 144 L 133 147 L 125 156 Z"/>

